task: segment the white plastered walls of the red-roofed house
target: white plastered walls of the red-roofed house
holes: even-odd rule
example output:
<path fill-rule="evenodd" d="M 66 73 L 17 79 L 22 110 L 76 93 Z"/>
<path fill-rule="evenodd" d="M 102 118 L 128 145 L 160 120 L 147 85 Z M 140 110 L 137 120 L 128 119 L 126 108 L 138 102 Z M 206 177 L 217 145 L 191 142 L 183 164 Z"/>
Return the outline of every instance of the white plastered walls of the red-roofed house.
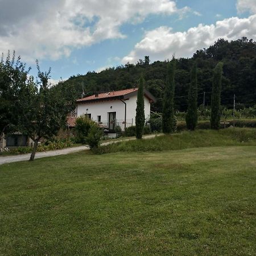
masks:
<path fill-rule="evenodd" d="M 137 95 L 126 100 L 126 123 L 135 125 Z M 112 108 L 110 108 L 112 106 Z M 88 110 L 86 110 L 88 109 Z M 120 100 L 111 101 L 95 101 L 90 103 L 78 103 L 77 117 L 82 114 L 91 114 L 94 121 L 97 121 L 97 116 L 101 115 L 101 122 L 108 122 L 108 113 L 116 112 L 116 121 L 125 121 L 125 104 Z M 150 117 L 150 101 L 144 97 L 144 112 L 145 118 Z M 123 127 L 122 127 L 123 129 Z"/>

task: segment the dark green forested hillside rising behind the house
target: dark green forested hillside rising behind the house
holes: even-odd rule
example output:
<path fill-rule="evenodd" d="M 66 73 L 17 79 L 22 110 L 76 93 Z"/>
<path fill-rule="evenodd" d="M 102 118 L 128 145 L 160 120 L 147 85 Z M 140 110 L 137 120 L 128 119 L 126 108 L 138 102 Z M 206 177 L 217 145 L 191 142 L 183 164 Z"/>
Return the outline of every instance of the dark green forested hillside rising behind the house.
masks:
<path fill-rule="evenodd" d="M 198 67 L 199 105 L 203 104 L 204 92 L 205 105 L 210 105 L 212 73 L 218 61 L 224 63 L 221 104 L 233 108 L 234 94 L 236 94 L 237 108 L 256 104 L 256 42 L 247 38 L 232 42 L 219 39 L 213 46 L 196 51 L 189 59 L 176 60 L 175 108 L 177 110 L 187 109 L 190 72 L 195 60 Z M 88 72 L 86 75 L 72 76 L 64 83 L 75 86 L 77 97 L 80 98 L 83 88 L 86 96 L 89 96 L 94 92 L 138 86 L 139 77 L 143 74 L 146 88 L 158 99 L 152 109 L 161 112 L 167 63 L 168 60 L 150 63 L 149 57 L 145 56 L 144 60 L 139 60 L 135 65 L 127 63 L 100 73 Z"/>

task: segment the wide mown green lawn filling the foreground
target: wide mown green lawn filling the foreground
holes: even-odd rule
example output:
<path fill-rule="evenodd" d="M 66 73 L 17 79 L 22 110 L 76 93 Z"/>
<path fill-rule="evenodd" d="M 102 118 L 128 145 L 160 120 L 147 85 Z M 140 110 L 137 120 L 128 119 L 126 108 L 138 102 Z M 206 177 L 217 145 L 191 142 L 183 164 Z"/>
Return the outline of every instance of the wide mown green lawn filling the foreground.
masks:
<path fill-rule="evenodd" d="M 256 146 L 0 166 L 0 255 L 255 255 Z"/>

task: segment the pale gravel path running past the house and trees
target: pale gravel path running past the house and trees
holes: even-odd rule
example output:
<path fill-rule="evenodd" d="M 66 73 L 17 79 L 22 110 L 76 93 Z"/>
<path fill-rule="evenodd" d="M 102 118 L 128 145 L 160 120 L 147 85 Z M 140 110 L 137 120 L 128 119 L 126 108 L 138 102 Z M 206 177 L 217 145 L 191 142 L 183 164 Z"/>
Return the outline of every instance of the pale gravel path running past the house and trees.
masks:
<path fill-rule="evenodd" d="M 143 136 L 144 139 L 154 138 L 155 136 L 159 136 L 155 134 L 145 135 Z M 131 141 L 135 138 L 129 139 L 122 139 L 122 141 Z M 103 142 L 102 145 L 107 145 L 110 143 L 117 143 L 119 141 L 110 141 L 110 142 Z M 56 156 L 56 155 L 67 155 L 69 153 L 79 152 L 82 150 L 89 150 L 88 146 L 79 146 L 79 147 L 68 147 L 63 148 L 62 150 L 53 150 L 53 151 L 45 151 L 45 152 L 36 152 L 35 158 L 46 158 L 47 156 Z M 1 156 L 0 157 L 0 164 L 5 163 L 13 163 L 19 161 L 27 161 L 30 159 L 30 154 L 22 154 L 22 155 L 10 155 L 10 156 Z"/>

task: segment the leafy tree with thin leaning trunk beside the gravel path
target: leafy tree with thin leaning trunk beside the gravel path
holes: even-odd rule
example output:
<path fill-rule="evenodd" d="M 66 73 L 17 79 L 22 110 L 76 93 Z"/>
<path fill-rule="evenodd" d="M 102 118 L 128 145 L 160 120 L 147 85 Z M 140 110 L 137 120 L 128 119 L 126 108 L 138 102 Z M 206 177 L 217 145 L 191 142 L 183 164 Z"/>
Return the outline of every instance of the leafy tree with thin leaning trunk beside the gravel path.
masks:
<path fill-rule="evenodd" d="M 34 141 L 30 160 L 34 160 L 36 148 L 41 138 L 49 139 L 65 125 L 67 114 L 75 108 L 75 94 L 68 86 L 62 90 L 51 87 L 49 73 L 41 72 L 38 61 L 38 86 L 31 81 L 20 88 L 17 105 L 19 107 L 18 130 L 26 133 Z M 38 89 L 39 87 L 39 89 Z"/>

